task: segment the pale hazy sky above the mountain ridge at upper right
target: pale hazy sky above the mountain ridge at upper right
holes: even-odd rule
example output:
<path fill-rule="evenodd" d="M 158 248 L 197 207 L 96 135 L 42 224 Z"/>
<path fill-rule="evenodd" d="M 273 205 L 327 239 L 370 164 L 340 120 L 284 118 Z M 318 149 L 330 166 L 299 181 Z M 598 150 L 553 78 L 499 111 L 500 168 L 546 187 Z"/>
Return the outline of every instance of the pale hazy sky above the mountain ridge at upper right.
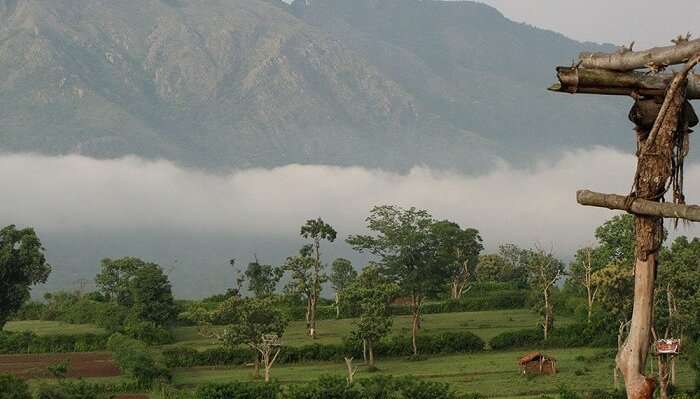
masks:
<path fill-rule="evenodd" d="M 700 36 L 699 0 L 479 0 L 508 18 L 582 41 L 670 44 L 686 32 Z"/>

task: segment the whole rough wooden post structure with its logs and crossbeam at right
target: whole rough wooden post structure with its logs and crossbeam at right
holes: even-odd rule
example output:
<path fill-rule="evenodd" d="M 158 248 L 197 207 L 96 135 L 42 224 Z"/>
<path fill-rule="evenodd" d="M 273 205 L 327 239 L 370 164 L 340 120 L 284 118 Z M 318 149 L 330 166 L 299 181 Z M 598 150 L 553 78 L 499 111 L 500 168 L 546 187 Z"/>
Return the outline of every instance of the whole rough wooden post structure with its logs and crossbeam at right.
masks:
<path fill-rule="evenodd" d="M 682 172 L 677 169 L 687 152 L 690 131 L 686 102 L 689 95 L 696 95 L 697 90 L 697 80 L 695 76 L 689 78 L 689 74 L 700 62 L 700 41 L 689 41 L 688 36 L 685 39 L 679 37 L 675 43 L 673 47 L 643 52 L 633 52 L 630 46 L 630 49 L 616 54 L 584 53 L 579 65 L 557 68 L 560 84 L 550 88 L 569 93 L 628 94 L 636 100 L 643 97 L 664 99 L 658 109 L 639 110 L 653 112 L 651 116 L 655 122 L 653 127 L 637 126 L 638 160 L 633 195 L 577 193 L 577 201 L 581 204 L 622 209 L 635 215 L 634 305 L 629 333 L 616 357 L 628 399 L 651 399 L 656 388 L 656 381 L 644 372 L 652 338 L 656 266 L 663 239 L 663 218 L 700 220 L 698 207 L 684 205 L 682 177 L 679 180 L 678 175 Z M 687 64 L 676 74 L 656 74 L 668 65 L 686 61 Z M 634 72 L 639 68 L 649 68 L 654 74 Z M 669 181 L 674 183 L 675 204 L 661 204 Z"/>

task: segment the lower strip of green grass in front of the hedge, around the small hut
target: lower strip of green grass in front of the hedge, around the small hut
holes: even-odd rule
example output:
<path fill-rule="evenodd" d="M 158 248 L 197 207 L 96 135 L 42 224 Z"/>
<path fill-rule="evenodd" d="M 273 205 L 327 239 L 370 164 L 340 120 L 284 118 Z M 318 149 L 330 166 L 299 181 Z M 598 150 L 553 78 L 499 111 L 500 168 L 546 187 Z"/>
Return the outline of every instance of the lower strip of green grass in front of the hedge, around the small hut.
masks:
<path fill-rule="evenodd" d="M 604 352 L 601 349 L 576 348 L 546 351 L 558 360 L 556 376 L 527 378 L 518 371 L 520 351 L 482 352 L 471 355 L 431 357 L 424 361 L 379 359 L 379 373 L 367 373 L 362 367 L 357 378 L 372 375 L 411 375 L 430 381 L 450 383 L 460 393 L 479 393 L 494 398 L 527 398 L 554 394 L 560 386 L 586 392 L 592 389 L 612 389 L 612 359 L 593 360 Z M 580 359 L 584 356 L 586 359 Z M 342 363 L 313 363 L 276 366 L 272 377 L 283 384 L 295 384 L 317 379 L 321 375 L 345 375 Z M 580 375 L 577 375 L 577 372 Z M 173 382 L 180 386 L 194 386 L 208 382 L 250 381 L 252 369 L 198 368 L 177 370 Z M 691 388 L 694 373 L 689 365 L 680 362 L 678 382 L 681 388 Z"/>

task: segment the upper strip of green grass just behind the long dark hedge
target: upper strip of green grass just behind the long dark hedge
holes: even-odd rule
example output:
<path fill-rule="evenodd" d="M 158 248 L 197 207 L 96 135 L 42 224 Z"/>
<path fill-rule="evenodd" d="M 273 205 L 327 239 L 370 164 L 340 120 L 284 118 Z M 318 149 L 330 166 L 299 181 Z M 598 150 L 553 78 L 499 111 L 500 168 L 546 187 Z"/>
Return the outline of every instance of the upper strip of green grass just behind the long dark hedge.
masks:
<path fill-rule="evenodd" d="M 537 314 L 526 309 L 496 310 L 484 312 L 463 312 L 430 314 L 423 317 L 420 334 L 438 334 L 449 331 L 471 331 L 488 342 L 494 336 L 523 328 L 535 328 L 538 323 Z M 567 324 L 567 318 L 559 318 L 557 322 Z M 350 334 L 352 319 L 321 320 L 317 322 L 317 343 L 340 343 L 343 337 Z M 398 316 L 394 319 L 392 333 L 395 335 L 411 334 L 410 316 Z M 178 346 L 188 346 L 204 349 L 218 344 L 212 339 L 200 336 L 196 327 L 180 327 L 175 329 L 175 339 Z M 285 345 L 301 346 L 312 341 L 306 335 L 306 323 L 294 321 L 289 324 L 283 339 Z"/>

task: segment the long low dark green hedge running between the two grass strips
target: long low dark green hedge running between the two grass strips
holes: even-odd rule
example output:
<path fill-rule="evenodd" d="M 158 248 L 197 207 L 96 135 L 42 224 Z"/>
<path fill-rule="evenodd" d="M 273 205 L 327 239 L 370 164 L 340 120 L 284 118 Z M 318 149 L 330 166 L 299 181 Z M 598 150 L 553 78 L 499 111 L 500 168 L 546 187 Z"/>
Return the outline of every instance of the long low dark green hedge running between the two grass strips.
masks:
<path fill-rule="evenodd" d="M 483 350 L 484 341 L 470 332 L 419 335 L 418 349 L 421 355 L 440 353 L 469 353 Z M 376 356 L 410 356 L 413 354 L 411 337 L 389 337 L 375 347 Z M 284 347 L 277 359 L 278 363 L 301 363 L 311 361 L 342 361 L 344 356 L 362 357 L 362 344 L 346 340 L 343 344 L 311 344 L 300 347 Z M 197 351 L 191 348 L 171 348 L 163 351 L 168 367 L 197 367 L 241 365 L 255 359 L 249 349 L 207 349 Z"/>

